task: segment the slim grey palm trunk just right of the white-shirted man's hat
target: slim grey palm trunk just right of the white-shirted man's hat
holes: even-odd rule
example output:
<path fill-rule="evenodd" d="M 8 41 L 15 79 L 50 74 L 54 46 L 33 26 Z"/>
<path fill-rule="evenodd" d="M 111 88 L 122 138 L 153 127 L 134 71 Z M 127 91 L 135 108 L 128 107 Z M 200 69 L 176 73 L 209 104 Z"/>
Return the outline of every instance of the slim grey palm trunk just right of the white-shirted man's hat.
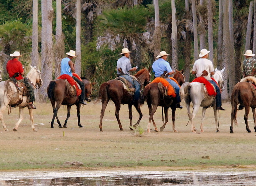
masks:
<path fill-rule="evenodd" d="M 209 46 L 209 59 L 213 62 L 213 29 L 212 29 L 212 0 L 208 0 L 208 46 Z"/>

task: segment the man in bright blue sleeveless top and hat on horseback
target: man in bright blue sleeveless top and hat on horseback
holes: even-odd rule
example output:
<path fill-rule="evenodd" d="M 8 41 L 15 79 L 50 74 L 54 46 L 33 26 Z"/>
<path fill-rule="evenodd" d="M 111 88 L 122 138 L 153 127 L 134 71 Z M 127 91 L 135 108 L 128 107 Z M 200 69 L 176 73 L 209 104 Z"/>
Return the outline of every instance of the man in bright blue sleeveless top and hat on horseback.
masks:
<path fill-rule="evenodd" d="M 86 105 L 86 103 L 84 103 L 84 98 L 85 98 L 84 84 L 82 81 L 80 81 L 77 77 L 73 76 L 73 74 L 72 74 L 72 72 L 73 73 L 75 72 L 75 65 L 71 61 L 71 59 L 73 59 L 73 57 L 76 57 L 75 51 L 70 50 L 69 52 L 66 52 L 66 54 L 67 54 L 67 57 L 65 57 L 61 60 L 61 75 L 67 74 L 67 75 L 71 76 L 80 85 L 82 92 L 81 92 L 81 95 L 79 96 L 79 103 Z"/>

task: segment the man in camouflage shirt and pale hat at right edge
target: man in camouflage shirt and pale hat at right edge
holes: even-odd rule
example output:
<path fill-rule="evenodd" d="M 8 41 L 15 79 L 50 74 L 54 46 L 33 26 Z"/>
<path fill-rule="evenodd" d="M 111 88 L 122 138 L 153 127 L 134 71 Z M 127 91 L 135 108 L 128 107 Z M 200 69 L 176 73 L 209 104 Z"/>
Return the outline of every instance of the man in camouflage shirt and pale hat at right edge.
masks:
<path fill-rule="evenodd" d="M 246 59 L 243 61 L 243 77 L 256 77 L 256 59 L 252 58 L 255 54 L 252 50 L 246 50 L 244 55 Z"/>

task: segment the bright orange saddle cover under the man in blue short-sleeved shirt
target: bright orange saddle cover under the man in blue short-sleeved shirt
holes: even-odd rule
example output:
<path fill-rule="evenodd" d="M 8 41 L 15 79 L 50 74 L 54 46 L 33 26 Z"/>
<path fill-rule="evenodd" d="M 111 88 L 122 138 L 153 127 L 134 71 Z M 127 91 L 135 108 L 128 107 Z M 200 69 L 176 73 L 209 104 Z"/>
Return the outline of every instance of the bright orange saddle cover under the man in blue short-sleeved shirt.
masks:
<path fill-rule="evenodd" d="M 177 84 L 178 82 L 174 78 L 170 78 L 171 80 L 174 80 Z M 172 96 L 176 97 L 175 90 L 172 85 L 168 82 L 167 79 L 162 77 L 157 77 L 152 81 L 152 83 L 158 83 L 159 90 L 165 95 L 165 96 Z"/>

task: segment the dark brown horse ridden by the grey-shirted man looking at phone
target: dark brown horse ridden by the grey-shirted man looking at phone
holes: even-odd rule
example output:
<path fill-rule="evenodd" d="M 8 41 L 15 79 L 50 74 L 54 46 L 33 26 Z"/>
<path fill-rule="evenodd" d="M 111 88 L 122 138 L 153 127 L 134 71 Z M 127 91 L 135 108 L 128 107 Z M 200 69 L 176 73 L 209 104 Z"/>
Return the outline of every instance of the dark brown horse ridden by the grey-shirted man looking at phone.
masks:
<path fill-rule="evenodd" d="M 150 82 L 150 70 L 151 70 L 151 67 L 148 70 L 144 68 L 138 71 L 134 75 L 134 78 L 138 81 L 141 87 L 146 86 Z M 140 120 L 142 118 L 142 113 L 141 113 L 138 101 L 135 101 L 133 99 L 133 95 L 129 94 L 128 91 L 124 89 L 124 85 L 121 81 L 111 79 L 100 85 L 99 96 L 95 102 L 95 104 L 99 102 L 99 100 L 101 100 L 102 102 L 102 108 L 100 112 L 100 124 L 99 124 L 100 131 L 102 131 L 102 119 L 110 99 L 115 104 L 115 108 L 116 108 L 115 116 L 116 116 L 120 131 L 123 131 L 123 127 L 119 119 L 119 111 L 121 108 L 121 104 L 128 104 L 130 126 L 132 126 L 132 106 L 133 105 L 136 108 L 137 112 L 139 113 L 139 120 L 137 121 L 136 124 L 138 125 L 140 123 Z M 130 127 L 130 130 L 133 130 L 133 129 Z"/>

